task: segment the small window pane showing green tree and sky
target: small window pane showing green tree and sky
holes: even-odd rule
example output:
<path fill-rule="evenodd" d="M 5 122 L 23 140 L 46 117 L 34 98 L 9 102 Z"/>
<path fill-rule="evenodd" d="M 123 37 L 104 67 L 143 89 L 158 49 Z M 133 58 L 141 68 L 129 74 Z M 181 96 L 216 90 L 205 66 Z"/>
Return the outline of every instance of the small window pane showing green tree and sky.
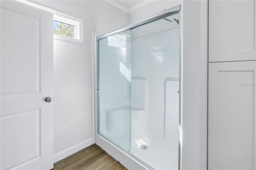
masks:
<path fill-rule="evenodd" d="M 53 34 L 57 34 L 64 37 L 74 38 L 74 27 L 63 22 L 54 21 Z"/>

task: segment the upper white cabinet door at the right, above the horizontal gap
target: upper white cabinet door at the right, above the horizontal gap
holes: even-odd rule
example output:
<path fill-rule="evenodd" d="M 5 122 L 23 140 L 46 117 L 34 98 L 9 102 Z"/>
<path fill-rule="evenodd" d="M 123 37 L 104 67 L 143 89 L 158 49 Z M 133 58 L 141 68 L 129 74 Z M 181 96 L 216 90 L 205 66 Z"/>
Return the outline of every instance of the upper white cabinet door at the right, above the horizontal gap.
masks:
<path fill-rule="evenodd" d="M 254 60 L 255 1 L 209 1 L 209 62 Z"/>

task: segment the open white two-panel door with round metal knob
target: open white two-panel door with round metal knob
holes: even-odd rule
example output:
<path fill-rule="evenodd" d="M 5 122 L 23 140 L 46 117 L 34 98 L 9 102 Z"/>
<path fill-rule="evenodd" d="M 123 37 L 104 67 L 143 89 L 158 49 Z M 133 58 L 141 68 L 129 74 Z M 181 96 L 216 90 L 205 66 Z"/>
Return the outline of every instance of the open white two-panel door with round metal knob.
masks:
<path fill-rule="evenodd" d="M 1 169 L 53 167 L 52 14 L 1 1 Z"/>

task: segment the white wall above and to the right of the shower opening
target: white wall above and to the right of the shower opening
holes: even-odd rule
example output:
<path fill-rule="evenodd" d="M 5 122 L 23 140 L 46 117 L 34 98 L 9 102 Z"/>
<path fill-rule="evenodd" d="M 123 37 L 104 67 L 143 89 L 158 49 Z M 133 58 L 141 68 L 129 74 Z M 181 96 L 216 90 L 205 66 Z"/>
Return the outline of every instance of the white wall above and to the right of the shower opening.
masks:
<path fill-rule="evenodd" d="M 129 14 L 129 23 L 182 4 L 181 168 L 207 169 L 207 1 L 154 1 Z"/>

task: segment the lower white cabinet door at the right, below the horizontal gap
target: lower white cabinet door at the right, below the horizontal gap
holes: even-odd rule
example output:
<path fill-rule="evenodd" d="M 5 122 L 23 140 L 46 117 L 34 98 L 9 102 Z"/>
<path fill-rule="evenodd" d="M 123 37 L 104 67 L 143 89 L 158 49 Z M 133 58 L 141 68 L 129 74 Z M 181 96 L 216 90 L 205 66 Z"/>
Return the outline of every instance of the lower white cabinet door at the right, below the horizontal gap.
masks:
<path fill-rule="evenodd" d="M 208 169 L 255 169 L 256 61 L 209 64 Z"/>

